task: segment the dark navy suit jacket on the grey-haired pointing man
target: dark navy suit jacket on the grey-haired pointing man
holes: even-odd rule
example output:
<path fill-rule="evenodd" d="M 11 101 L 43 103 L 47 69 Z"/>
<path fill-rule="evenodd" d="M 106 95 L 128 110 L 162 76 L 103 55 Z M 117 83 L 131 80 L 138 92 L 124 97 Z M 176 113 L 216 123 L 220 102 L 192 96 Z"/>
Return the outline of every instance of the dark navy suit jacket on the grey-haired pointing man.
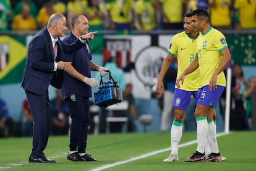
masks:
<path fill-rule="evenodd" d="M 72 54 L 84 44 L 77 40 L 72 44 L 66 44 L 58 38 L 57 61 L 64 59 L 64 53 Z M 54 54 L 51 36 L 47 28 L 36 33 L 28 44 L 28 56 L 22 78 L 24 90 L 36 94 L 43 94 L 51 84 L 55 88 L 61 88 L 63 84 L 63 70 L 54 72 Z"/>

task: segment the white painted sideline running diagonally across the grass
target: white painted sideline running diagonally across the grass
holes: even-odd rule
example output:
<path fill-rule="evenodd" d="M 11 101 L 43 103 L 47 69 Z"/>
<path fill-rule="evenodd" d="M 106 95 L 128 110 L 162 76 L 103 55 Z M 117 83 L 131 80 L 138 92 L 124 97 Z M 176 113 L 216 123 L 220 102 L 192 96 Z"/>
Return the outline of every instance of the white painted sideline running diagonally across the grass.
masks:
<path fill-rule="evenodd" d="M 223 136 L 223 135 L 228 135 L 228 134 L 229 133 L 218 133 L 216 135 L 216 137 Z M 197 143 L 197 140 L 189 141 L 187 143 L 181 144 L 179 146 L 179 148 L 182 148 L 182 147 L 185 147 L 185 146 L 190 146 L 190 145 L 195 144 L 195 143 Z M 97 167 L 95 169 L 91 169 L 89 171 L 100 171 L 100 170 L 108 169 L 108 168 L 114 167 L 116 165 L 126 164 L 126 163 L 129 163 L 129 162 L 132 162 L 132 161 L 137 161 L 139 159 L 143 159 L 145 157 L 153 156 L 155 154 L 158 154 L 158 153 L 161 153 L 161 152 L 165 152 L 165 151 L 171 151 L 171 147 L 170 148 L 166 148 L 166 149 L 160 149 L 158 151 L 148 152 L 147 154 L 142 154 L 142 155 L 137 156 L 137 157 L 132 157 L 132 158 L 124 160 L 124 161 L 114 162 L 112 164 L 106 164 L 106 165 L 103 165 L 101 167 Z"/>

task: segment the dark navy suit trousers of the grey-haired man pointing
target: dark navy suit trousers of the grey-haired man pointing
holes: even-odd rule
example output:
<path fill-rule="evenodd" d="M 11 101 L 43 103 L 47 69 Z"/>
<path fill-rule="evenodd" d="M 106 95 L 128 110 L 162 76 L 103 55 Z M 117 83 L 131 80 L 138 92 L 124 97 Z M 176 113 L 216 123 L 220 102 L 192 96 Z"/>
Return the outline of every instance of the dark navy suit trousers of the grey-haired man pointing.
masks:
<path fill-rule="evenodd" d="M 48 90 L 41 95 L 30 91 L 25 91 L 25 93 L 34 119 L 33 148 L 30 156 L 32 158 L 45 158 L 43 151 L 47 146 L 51 127 Z"/>

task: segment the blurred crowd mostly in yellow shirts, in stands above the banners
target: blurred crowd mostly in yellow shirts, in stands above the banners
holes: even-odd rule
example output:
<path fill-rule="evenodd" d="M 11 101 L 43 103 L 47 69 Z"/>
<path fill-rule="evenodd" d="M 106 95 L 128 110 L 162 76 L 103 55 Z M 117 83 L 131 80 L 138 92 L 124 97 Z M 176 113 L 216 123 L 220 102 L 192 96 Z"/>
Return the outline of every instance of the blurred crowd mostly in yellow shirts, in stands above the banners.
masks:
<path fill-rule="evenodd" d="M 252 0 L 2 0 L 0 30 L 19 30 L 20 27 L 12 28 L 12 22 L 21 14 L 24 5 L 29 6 L 37 30 L 45 27 L 53 13 L 65 15 L 69 29 L 72 16 L 83 14 L 92 22 L 91 29 L 97 30 L 137 29 L 143 33 L 154 29 L 181 30 L 184 14 L 194 9 L 208 10 L 211 25 L 217 29 L 256 28 L 256 2 Z"/>

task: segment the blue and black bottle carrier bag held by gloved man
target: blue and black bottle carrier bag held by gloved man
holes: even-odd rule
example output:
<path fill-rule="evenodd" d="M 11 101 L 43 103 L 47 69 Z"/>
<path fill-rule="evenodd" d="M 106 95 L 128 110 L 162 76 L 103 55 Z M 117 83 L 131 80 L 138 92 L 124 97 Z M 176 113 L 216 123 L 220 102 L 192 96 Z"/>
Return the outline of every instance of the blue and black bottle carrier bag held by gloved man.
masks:
<path fill-rule="evenodd" d="M 108 76 L 108 82 L 103 82 L 101 77 L 99 89 L 94 93 L 95 104 L 100 107 L 108 107 L 122 101 L 122 91 L 119 88 L 119 83 L 114 81 L 110 71 L 108 71 Z"/>

